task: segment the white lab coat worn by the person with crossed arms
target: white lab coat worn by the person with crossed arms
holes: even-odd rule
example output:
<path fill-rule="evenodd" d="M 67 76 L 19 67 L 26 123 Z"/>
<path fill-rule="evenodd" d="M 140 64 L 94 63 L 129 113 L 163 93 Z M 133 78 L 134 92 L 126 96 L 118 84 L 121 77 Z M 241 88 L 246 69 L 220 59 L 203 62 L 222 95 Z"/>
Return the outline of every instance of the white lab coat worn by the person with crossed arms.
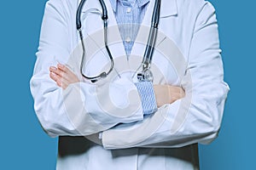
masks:
<path fill-rule="evenodd" d="M 119 34 L 109 36 L 121 78 L 113 71 L 96 84 L 85 81 L 62 90 L 49 78 L 49 66 L 61 62 L 74 72 L 79 70 L 73 61 L 81 52 L 74 50 L 79 44 L 75 25 L 79 2 L 49 0 L 46 4 L 31 91 L 44 131 L 60 137 L 57 169 L 197 169 L 197 143 L 207 144 L 218 136 L 229 88 L 223 81 L 214 8 L 203 0 L 161 2 L 159 50 L 152 65 L 153 72 L 160 74 L 154 83 L 180 85 L 186 97 L 144 117 L 131 72 L 142 59 L 148 32 L 141 28 L 129 59 Z M 111 35 L 118 29 L 113 27 L 117 24 L 111 5 L 108 0 L 105 3 Z M 83 12 L 91 7 L 102 10 L 98 1 L 88 0 Z M 153 7 L 150 1 L 142 26 L 150 26 Z M 93 16 L 82 23 L 85 37 L 102 28 L 101 20 Z M 102 68 L 97 65 L 108 63 L 108 58 L 96 55 L 91 59 L 94 64 L 86 65 L 87 74 L 99 72 Z M 169 62 L 165 55 L 177 58 Z M 102 145 L 89 140 L 94 135 L 79 137 L 93 133 L 101 134 Z"/>

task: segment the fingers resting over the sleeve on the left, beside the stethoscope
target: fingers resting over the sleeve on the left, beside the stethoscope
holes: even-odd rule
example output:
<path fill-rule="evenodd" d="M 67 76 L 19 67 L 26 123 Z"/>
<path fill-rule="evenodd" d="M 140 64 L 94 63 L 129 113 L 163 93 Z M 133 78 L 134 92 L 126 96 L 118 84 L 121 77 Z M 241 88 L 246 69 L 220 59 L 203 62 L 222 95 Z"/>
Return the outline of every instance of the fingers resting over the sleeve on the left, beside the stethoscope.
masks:
<path fill-rule="evenodd" d="M 49 77 L 63 89 L 66 89 L 71 83 L 80 82 L 79 78 L 73 73 L 73 71 L 70 71 L 67 66 L 61 64 L 58 64 L 57 67 L 49 67 Z"/>

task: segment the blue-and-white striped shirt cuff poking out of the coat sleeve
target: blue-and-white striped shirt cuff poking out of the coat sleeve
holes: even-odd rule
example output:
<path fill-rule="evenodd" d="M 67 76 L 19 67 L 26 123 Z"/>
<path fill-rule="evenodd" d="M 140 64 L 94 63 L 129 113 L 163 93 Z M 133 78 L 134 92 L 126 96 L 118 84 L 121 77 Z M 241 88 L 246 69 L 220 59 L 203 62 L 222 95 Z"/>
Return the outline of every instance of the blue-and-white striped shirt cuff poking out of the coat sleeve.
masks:
<path fill-rule="evenodd" d="M 152 82 L 136 82 L 135 85 L 142 99 L 143 114 L 148 115 L 157 111 Z"/>

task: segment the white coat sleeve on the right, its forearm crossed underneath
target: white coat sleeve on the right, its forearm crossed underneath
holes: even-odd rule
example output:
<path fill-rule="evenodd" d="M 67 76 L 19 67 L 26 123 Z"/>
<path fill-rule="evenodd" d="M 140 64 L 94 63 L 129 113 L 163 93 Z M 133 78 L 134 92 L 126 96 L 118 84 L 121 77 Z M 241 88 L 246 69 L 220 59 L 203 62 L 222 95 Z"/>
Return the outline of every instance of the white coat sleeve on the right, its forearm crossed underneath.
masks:
<path fill-rule="evenodd" d="M 218 25 L 212 4 L 206 3 L 195 22 L 182 87 L 186 96 L 162 106 L 142 122 L 102 133 L 106 149 L 182 147 L 209 144 L 218 136 L 229 87 L 224 82 Z"/>

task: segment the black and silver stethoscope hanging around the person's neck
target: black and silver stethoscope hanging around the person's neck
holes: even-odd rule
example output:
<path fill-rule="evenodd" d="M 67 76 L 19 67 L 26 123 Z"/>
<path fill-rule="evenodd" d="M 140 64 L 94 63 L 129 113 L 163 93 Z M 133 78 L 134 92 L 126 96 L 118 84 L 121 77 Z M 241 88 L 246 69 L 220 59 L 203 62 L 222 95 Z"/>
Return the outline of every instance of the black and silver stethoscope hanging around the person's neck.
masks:
<path fill-rule="evenodd" d="M 79 31 L 79 37 L 81 40 L 82 44 L 82 49 L 83 49 L 83 54 L 82 54 L 82 59 L 81 59 L 81 64 L 80 64 L 80 73 L 81 75 L 89 79 L 91 82 L 96 82 L 101 78 L 108 77 L 109 73 L 113 71 L 113 57 L 112 54 L 108 48 L 108 10 L 106 7 L 106 4 L 104 3 L 103 0 L 99 0 L 102 6 L 102 20 L 103 20 L 103 29 L 104 29 L 104 44 L 105 48 L 107 49 L 108 52 L 108 57 L 111 61 L 111 65 L 108 71 L 103 71 L 101 74 L 99 74 L 96 77 L 88 77 L 84 75 L 83 73 L 83 68 L 84 68 L 84 55 L 85 55 L 85 48 L 84 48 L 84 41 L 83 41 L 83 33 L 82 33 L 82 24 L 81 24 L 81 12 L 82 8 L 84 6 L 86 0 L 81 0 L 79 3 L 79 8 L 77 10 L 77 15 L 76 15 L 76 25 L 77 25 L 77 30 Z M 153 81 L 153 74 L 150 71 L 150 65 L 151 61 L 153 58 L 154 54 L 154 45 L 157 37 L 157 32 L 158 32 L 158 25 L 159 25 L 159 20 L 160 20 L 160 0 L 155 0 L 154 2 L 154 12 L 152 15 L 152 20 L 151 20 L 151 26 L 150 26 L 150 31 L 148 34 L 148 42 L 147 46 L 143 55 L 143 62 L 141 66 L 137 69 L 136 74 L 137 74 L 137 80 L 139 82 L 143 81 Z M 138 71 L 140 68 L 142 68 L 142 71 Z"/>

